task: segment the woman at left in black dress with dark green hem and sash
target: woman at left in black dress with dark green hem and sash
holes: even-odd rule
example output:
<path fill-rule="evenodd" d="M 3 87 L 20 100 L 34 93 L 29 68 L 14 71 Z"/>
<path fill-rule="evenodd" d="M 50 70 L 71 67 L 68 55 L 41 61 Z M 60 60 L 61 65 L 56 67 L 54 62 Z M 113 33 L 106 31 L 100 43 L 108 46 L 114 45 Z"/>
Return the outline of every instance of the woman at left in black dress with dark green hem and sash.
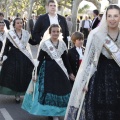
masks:
<path fill-rule="evenodd" d="M 27 51 L 30 35 L 22 29 L 22 19 L 13 21 L 14 30 L 7 35 L 3 62 L 0 73 L 0 94 L 15 95 L 16 102 L 20 102 L 20 95 L 24 94 L 34 68 L 31 54 Z"/>

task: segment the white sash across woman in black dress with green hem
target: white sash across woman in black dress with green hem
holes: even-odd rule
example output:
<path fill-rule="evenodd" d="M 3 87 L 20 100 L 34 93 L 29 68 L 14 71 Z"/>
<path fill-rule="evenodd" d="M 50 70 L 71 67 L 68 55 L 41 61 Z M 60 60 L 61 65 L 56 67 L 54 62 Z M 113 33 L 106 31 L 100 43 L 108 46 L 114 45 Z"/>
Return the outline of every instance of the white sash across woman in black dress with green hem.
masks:
<path fill-rule="evenodd" d="M 33 65 L 36 67 L 34 60 L 31 56 L 31 54 L 28 52 L 28 50 L 26 49 L 26 47 L 21 43 L 21 41 L 18 39 L 18 37 L 16 36 L 14 31 L 9 31 L 8 35 L 10 37 L 10 42 L 16 47 L 18 48 L 24 55 L 26 55 L 29 60 L 33 63 Z"/>

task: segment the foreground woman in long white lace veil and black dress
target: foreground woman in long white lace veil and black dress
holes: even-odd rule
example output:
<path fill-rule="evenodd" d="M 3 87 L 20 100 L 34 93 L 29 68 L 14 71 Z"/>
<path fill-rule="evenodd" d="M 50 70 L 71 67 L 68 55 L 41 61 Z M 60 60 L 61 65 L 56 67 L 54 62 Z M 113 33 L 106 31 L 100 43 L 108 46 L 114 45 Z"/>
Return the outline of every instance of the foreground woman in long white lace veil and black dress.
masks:
<path fill-rule="evenodd" d="M 65 120 L 120 120 L 119 22 L 120 7 L 110 5 L 91 31 Z"/>

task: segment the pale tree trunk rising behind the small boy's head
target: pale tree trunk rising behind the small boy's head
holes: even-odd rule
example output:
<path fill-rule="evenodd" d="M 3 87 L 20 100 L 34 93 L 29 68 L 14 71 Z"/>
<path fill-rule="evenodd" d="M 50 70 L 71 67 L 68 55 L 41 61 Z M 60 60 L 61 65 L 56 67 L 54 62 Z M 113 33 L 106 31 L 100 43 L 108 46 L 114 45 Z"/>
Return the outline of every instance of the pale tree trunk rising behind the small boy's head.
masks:
<path fill-rule="evenodd" d="M 77 14 L 78 14 L 78 7 L 82 0 L 73 0 L 73 6 L 72 6 L 72 32 L 75 32 L 77 29 Z"/>

